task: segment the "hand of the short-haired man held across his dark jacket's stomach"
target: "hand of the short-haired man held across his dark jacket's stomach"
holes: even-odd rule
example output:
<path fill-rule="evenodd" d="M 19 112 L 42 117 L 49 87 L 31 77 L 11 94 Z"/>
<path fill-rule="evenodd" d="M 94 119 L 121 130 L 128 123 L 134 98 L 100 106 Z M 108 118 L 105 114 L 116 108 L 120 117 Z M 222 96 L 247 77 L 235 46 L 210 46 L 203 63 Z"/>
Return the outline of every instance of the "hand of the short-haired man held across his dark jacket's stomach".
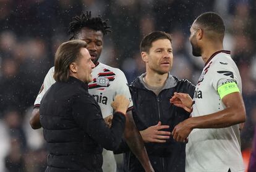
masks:
<path fill-rule="evenodd" d="M 171 132 L 169 131 L 160 131 L 160 129 L 169 128 L 169 125 L 161 125 L 161 121 L 157 125 L 150 126 L 143 131 L 140 131 L 142 139 L 144 142 L 166 142 L 166 139 L 169 139 Z"/>

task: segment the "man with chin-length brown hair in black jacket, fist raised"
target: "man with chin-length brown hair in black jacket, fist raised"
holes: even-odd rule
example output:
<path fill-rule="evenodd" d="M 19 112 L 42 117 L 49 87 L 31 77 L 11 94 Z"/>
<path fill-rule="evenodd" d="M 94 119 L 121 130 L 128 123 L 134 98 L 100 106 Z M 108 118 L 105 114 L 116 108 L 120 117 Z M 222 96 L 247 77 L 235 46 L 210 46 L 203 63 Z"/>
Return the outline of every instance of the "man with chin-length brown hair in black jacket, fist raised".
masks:
<path fill-rule="evenodd" d="M 116 96 L 111 128 L 100 106 L 88 93 L 95 67 L 87 43 L 72 40 L 59 46 L 54 61 L 54 83 L 41 100 L 40 123 L 47 142 L 46 172 L 102 171 L 103 147 L 115 150 L 121 142 L 129 100 Z"/>

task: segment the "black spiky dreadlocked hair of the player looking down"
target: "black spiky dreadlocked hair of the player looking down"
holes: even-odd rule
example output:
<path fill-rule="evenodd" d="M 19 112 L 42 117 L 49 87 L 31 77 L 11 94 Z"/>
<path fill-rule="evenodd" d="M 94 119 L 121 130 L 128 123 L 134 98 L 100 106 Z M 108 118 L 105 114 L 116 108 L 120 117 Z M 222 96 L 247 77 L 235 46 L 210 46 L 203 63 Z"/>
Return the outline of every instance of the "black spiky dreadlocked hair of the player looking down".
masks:
<path fill-rule="evenodd" d="M 69 23 L 69 34 L 71 35 L 70 39 L 74 39 L 75 35 L 83 28 L 87 27 L 95 31 L 101 31 L 103 35 L 107 35 L 108 32 L 111 32 L 106 23 L 108 22 L 108 19 L 103 20 L 101 15 L 98 15 L 98 17 L 92 18 L 92 12 L 87 11 L 86 14 L 82 13 L 80 16 L 77 15 L 72 18 L 72 21 Z"/>

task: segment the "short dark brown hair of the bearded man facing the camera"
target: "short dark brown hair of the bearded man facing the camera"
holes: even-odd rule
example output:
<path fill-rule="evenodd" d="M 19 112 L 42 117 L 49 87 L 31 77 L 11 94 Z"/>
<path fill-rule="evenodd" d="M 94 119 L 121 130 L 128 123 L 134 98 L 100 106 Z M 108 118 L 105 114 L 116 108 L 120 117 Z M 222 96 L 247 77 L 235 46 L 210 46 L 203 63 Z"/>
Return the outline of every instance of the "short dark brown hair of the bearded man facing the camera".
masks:
<path fill-rule="evenodd" d="M 140 52 L 149 52 L 152 43 L 154 41 L 157 41 L 158 39 L 169 39 L 170 42 L 172 41 L 171 35 L 169 35 L 169 33 L 166 33 L 164 31 L 152 31 L 148 35 L 144 36 L 144 38 L 140 42 Z"/>

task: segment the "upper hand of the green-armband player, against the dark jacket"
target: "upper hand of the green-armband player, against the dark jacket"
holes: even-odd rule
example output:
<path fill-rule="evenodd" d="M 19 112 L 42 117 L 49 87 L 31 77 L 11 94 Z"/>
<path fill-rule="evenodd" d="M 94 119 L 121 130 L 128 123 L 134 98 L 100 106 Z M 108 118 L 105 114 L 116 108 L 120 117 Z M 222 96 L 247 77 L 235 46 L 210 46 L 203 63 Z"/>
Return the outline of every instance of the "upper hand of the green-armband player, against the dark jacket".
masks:
<path fill-rule="evenodd" d="M 174 96 L 170 99 L 171 104 L 176 105 L 177 107 L 181 107 L 187 112 L 191 112 L 191 107 L 193 100 L 189 96 L 189 94 L 182 92 L 174 92 Z"/>

